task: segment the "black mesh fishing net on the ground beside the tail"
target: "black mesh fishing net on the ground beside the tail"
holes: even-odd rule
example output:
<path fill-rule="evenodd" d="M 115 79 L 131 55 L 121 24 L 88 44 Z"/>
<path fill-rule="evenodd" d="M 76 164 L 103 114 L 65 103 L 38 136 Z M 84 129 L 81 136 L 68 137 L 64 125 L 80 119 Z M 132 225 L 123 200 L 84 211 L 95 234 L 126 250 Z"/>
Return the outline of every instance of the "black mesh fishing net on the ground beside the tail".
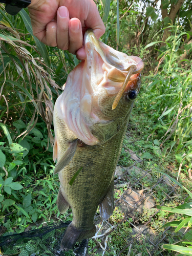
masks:
<path fill-rule="evenodd" d="M 61 251 L 60 243 L 69 223 L 53 223 L 28 232 L 1 237 L 0 256 L 86 256 L 88 239 L 77 243 L 74 250 Z"/>

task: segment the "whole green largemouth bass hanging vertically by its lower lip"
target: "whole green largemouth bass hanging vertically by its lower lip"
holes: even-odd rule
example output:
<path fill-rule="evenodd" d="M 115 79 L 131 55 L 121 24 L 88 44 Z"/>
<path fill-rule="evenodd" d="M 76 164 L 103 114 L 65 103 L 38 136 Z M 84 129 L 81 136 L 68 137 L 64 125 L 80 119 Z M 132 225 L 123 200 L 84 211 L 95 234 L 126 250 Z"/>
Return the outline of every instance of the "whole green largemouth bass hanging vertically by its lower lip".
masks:
<path fill-rule="evenodd" d="M 115 51 L 90 29 L 84 49 L 86 60 L 69 74 L 54 108 L 57 206 L 73 213 L 61 242 L 66 250 L 94 236 L 98 205 L 103 219 L 113 214 L 114 172 L 144 67 L 139 57 Z"/>

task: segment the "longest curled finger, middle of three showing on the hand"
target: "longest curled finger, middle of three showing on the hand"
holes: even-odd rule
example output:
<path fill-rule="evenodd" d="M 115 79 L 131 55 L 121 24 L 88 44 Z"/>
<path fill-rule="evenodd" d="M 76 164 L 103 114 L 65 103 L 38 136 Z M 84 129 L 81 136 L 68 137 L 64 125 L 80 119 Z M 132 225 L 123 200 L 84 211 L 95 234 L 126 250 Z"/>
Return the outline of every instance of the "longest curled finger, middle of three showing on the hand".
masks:
<path fill-rule="evenodd" d="M 57 47 L 61 50 L 69 48 L 69 11 L 65 6 L 57 11 Z"/>

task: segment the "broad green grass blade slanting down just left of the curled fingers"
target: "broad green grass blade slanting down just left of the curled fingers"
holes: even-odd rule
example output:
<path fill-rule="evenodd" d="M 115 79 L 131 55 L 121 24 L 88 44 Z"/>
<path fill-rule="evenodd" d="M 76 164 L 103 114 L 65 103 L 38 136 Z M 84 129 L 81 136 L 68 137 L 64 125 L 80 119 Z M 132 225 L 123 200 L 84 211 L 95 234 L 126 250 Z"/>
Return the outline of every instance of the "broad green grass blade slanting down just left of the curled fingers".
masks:
<path fill-rule="evenodd" d="M 19 12 L 20 16 L 22 16 L 22 19 L 24 21 L 24 24 L 26 26 L 27 31 L 33 36 L 36 45 L 37 45 L 37 49 L 39 50 L 41 56 L 44 58 L 44 61 L 46 63 L 46 65 L 50 68 L 51 67 L 51 61 L 49 58 L 49 53 L 48 50 L 46 48 L 46 46 L 44 44 L 42 44 L 41 41 L 39 41 L 39 39 L 36 38 L 36 36 L 33 35 L 33 30 L 32 30 L 32 26 L 31 26 L 31 19 L 29 17 L 29 15 L 27 14 L 27 12 L 22 9 Z"/>

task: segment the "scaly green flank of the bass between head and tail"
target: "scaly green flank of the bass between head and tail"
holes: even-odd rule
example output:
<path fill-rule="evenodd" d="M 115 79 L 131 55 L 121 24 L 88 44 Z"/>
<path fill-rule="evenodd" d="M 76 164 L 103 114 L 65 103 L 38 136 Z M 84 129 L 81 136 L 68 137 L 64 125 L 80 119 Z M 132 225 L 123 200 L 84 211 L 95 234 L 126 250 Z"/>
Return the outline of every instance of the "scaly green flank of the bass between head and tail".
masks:
<path fill-rule="evenodd" d="M 77 147 L 72 161 L 59 172 L 60 183 L 65 188 L 63 196 L 72 208 L 73 222 L 79 229 L 93 226 L 98 205 L 113 181 L 125 131 L 126 124 L 104 145 Z M 106 157 L 103 159 L 103 156 Z M 80 167 L 83 167 L 81 172 L 70 186 L 70 180 Z"/>

